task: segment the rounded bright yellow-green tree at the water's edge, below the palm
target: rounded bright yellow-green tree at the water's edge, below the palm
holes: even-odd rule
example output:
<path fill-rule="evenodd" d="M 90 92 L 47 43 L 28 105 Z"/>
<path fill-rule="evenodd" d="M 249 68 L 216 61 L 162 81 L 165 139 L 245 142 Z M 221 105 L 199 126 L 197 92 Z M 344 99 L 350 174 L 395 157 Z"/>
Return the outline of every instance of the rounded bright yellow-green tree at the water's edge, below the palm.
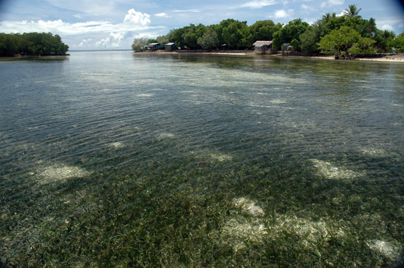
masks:
<path fill-rule="evenodd" d="M 355 29 L 342 26 L 321 38 L 318 48 L 325 54 L 343 56 L 346 59 L 350 55 L 373 53 L 370 45 L 374 42 L 375 40 L 362 37 Z"/>

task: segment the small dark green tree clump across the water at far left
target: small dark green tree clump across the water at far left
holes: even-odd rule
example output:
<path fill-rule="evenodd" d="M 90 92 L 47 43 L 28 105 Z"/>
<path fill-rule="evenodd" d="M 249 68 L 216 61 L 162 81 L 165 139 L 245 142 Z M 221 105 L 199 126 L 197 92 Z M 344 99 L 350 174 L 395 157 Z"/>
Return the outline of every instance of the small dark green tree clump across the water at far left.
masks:
<path fill-rule="evenodd" d="M 0 55 L 66 55 L 68 45 L 58 34 L 0 34 Z"/>

